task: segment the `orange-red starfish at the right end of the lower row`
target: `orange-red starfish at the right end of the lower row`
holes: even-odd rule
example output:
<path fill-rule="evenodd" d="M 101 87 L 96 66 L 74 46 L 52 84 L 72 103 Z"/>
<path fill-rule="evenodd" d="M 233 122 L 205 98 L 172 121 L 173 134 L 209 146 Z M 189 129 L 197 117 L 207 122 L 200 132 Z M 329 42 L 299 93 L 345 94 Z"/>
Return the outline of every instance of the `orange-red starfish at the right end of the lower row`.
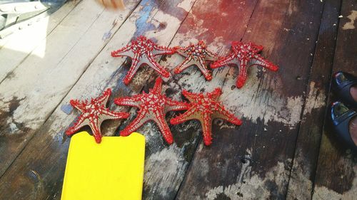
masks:
<path fill-rule="evenodd" d="M 203 129 L 203 142 L 207 146 L 212 143 L 211 124 L 214 118 L 221 118 L 234 125 L 241 125 L 241 120 L 234 117 L 221 102 L 218 102 L 218 98 L 221 95 L 220 88 L 216 88 L 213 92 L 206 93 L 206 95 L 188 93 L 186 90 L 183 90 L 182 94 L 191 102 L 191 105 L 186 112 L 171 119 L 170 122 L 172 125 L 177 125 L 187 120 L 199 120 Z"/>

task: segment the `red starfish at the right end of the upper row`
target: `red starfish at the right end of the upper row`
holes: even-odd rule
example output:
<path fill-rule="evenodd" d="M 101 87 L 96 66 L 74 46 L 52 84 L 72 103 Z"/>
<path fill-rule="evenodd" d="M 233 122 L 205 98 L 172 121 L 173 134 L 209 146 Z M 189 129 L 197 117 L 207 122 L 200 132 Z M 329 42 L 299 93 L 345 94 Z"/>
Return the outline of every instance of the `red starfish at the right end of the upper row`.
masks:
<path fill-rule="evenodd" d="M 263 56 L 258 54 L 262 50 L 263 46 L 258 46 L 254 43 L 241 43 L 240 41 L 233 41 L 231 53 L 226 58 L 222 58 L 221 60 L 217 60 L 212 63 L 211 68 L 219 68 L 228 64 L 239 64 L 239 75 L 236 86 L 237 88 L 241 88 L 244 83 L 246 83 L 247 65 L 250 60 L 256 61 L 256 63 L 252 65 L 261 65 L 262 67 L 273 71 L 278 70 L 277 65 L 274 65 L 269 60 L 266 60 Z"/>

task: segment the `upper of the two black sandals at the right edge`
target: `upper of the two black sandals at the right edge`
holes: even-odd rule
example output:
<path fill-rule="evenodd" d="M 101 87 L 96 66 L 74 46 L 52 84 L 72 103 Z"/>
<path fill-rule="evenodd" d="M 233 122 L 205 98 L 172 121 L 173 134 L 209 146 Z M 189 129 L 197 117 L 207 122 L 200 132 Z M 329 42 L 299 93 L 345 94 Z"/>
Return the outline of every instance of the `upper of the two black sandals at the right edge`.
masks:
<path fill-rule="evenodd" d="M 351 96 L 351 87 L 357 86 L 357 77 L 350 73 L 338 71 L 333 74 L 332 89 L 346 105 L 357 108 L 357 102 Z"/>

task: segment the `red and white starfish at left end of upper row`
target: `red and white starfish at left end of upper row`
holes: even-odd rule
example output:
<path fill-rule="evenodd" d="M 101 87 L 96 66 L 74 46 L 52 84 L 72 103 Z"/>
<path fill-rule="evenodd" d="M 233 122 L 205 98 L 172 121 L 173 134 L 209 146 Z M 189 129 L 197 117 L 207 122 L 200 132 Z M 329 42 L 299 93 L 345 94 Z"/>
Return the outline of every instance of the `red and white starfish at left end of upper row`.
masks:
<path fill-rule="evenodd" d="M 170 73 L 154 59 L 155 56 L 175 53 L 175 48 L 167 48 L 158 46 L 153 41 L 144 36 L 139 36 L 135 41 L 131 41 L 130 45 L 111 52 L 113 57 L 129 56 L 132 59 L 131 67 L 128 74 L 124 78 L 124 83 L 128 85 L 131 79 L 134 78 L 139 67 L 146 63 L 151 68 L 156 70 L 160 75 L 169 78 Z"/>

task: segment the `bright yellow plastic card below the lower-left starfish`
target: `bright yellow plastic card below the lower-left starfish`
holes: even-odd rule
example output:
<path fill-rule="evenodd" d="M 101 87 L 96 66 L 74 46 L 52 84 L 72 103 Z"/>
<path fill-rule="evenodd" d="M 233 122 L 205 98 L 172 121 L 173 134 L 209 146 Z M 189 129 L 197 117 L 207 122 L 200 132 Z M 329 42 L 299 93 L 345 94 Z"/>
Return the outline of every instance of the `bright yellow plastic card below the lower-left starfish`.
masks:
<path fill-rule="evenodd" d="M 103 137 L 88 132 L 71 137 L 61 200 L 140 200 L 145 137 Z"/>

